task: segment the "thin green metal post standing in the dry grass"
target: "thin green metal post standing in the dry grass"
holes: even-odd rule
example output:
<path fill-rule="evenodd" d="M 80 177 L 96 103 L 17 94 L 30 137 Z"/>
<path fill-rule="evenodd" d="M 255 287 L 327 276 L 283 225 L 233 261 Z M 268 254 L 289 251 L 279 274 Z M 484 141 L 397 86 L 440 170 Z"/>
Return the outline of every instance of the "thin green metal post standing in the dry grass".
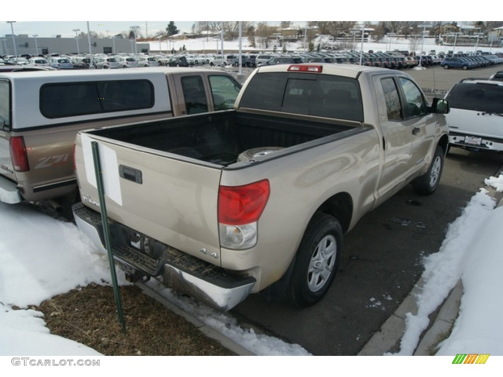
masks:
<path fill-rule="evenodd" d="M 100 163 L 100 154 L 98 151 L 98 142 L 92 141 L 93 162 L 96 174 L 96 185 L 98 187 L 98 195 L 100 198 L 101 220 L 103 223 L 103 234 L 105 235 L 105 248 L 107 249 L 108 262 L 110 265 L 110 275 L 112 276 L 112 285 L 114 287 L 115 305 L 119 314 L 119 322 L 122 325 L 122 331 L 126 333 L 126 324 L 124 322 L 124 313 L 122 312 L 121 296 L 119 294 L 119 285 L 117 283 L 117 274 L 115 273 L 114 255 L 112 254 L 112 245 L 110 243 L 110 229 L 108 227 L 107 206 L 105 204 L 105 190 L 103 189 L 103 179 Z"/>

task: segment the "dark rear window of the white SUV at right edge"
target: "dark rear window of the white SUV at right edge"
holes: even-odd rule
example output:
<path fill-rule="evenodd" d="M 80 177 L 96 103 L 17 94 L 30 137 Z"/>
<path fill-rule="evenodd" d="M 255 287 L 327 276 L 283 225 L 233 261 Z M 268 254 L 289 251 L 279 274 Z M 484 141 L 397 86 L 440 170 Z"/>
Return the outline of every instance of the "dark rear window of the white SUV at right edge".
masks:
<path fill-rule="evenodd" d="M 451 108 L 503 113 L 501 85 L 458 83 L 446 98 Z"/>

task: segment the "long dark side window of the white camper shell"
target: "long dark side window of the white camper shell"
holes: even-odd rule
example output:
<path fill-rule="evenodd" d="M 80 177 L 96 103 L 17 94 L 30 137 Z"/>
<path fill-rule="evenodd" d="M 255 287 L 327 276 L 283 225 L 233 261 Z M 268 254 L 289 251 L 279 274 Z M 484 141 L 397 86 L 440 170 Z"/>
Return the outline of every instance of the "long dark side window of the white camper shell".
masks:
<path fill-rule="evenodd" d="M 46 84 L 40 88 L 40 112 L 49 119 L 149 109 L 154 90 L 148 80 Z"/>

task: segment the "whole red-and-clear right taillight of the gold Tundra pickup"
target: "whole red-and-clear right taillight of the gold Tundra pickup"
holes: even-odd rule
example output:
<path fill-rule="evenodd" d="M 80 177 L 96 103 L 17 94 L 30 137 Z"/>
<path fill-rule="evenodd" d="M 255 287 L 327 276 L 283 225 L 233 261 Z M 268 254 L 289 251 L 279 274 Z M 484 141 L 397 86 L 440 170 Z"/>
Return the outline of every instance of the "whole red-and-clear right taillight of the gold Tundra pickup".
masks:
<path fill-rule="evenodd" d="M 269 200 L 269 180 L 243 186 L 220 186 L 218 225 L 220 246 L 248 249 L 257 243 L 257 223 Z"/>

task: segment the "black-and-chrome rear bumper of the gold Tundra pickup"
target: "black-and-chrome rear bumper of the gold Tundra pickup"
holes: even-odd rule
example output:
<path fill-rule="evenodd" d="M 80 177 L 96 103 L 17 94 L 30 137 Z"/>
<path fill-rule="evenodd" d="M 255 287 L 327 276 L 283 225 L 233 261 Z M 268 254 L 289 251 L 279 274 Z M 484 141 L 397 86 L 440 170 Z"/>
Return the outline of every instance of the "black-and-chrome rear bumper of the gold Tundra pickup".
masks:
<path fill-rule="evenodd" d="M 101 215 L 81 203 L 72 207 L 75 223 L 103 252 Z M 126 273 L 155 277 L 164 286 L 194 297 L 219 311 L 227 311 L 243 301 L 253 290 L 255 278 L 230 275 L 223 268 L 207 263 L 171 246 L 156 243 L 156 255 L 131 246 L 124 233 L 132 231 L 109 220 L 114 259 Z M 134 231 L 133 231 L 134 232 Z"/>

